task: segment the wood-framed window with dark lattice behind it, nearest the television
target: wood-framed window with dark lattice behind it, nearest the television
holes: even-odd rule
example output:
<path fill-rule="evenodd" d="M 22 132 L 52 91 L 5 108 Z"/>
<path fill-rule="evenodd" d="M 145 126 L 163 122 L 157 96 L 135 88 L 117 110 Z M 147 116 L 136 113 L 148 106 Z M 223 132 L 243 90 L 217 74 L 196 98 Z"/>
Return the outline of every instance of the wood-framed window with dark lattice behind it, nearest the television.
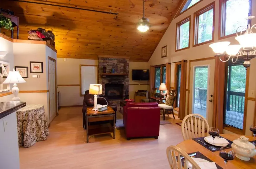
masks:
<path fill-rule="evenodd" d="M 161 83 L 166 82 L 166 65 L 155 66 L 155 88 L 159 88 Z M 156 91 L 160 93 L 160 90 Z"/>

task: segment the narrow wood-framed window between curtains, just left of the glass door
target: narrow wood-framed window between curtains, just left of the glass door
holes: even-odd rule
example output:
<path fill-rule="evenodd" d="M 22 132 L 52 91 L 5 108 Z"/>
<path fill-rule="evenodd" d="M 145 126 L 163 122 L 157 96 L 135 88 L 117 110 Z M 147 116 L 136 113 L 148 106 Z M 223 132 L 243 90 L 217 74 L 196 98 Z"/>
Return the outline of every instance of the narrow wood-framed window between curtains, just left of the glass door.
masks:
<path fill-rule="evenodd" d="M 178 109 L 179 108 L 179 96 L 180 96 L 180 82 L 181 82 L 181 62 L 175 63 L 174 74 L 175 74 L 174 89 L 177 91 L 176 99 L 174 102 L 174 108 Z"/>

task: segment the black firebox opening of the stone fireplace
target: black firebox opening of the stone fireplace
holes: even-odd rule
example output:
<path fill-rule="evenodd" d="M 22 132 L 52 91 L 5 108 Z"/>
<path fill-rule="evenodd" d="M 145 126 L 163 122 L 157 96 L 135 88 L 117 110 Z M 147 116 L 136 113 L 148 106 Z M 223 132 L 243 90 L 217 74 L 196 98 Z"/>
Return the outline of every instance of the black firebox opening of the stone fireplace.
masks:
<path fill-rule="evenodd" d="M 105 96 L 108 99 L 123 98 L 123 84 L 105 84 Z"/>

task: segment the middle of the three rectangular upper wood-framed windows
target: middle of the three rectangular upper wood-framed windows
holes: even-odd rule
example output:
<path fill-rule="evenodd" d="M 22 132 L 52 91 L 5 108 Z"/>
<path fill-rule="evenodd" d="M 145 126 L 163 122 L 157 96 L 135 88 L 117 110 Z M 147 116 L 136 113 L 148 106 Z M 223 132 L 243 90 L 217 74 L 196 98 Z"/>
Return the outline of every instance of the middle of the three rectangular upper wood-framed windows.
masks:
<path fill-rule="evenodd" d="M 214 41 L 215 1 L 194 13 L 193 47 Z"/>

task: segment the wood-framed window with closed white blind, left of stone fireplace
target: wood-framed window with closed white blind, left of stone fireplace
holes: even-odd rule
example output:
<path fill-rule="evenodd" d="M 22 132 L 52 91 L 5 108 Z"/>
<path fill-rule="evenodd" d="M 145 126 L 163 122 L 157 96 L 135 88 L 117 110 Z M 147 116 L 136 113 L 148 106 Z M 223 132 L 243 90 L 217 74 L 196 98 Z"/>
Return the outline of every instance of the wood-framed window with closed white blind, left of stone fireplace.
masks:
<path fill-rule="evenodd" d="M 98 70 L 96 66 L 81 66 L 81 94 L 89 90 L 90 84 L 98 83 Z"/>

